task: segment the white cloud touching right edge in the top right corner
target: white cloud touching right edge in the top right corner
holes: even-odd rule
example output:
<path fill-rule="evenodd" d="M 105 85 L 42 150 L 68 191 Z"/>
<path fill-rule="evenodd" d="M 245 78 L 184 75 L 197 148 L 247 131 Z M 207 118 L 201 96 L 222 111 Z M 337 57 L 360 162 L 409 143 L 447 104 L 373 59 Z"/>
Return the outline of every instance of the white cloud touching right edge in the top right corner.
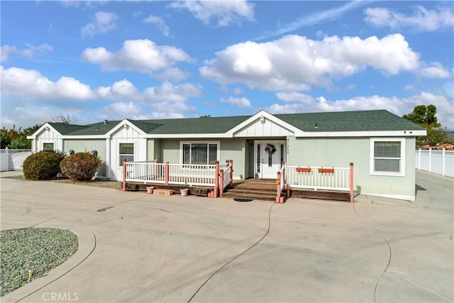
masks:
<path fill-rule="evenodd" d="M 441 28 L 454 26 L 454 13 L 452 8 L 438 8 L 428 10 L 423 6 L 414 6 L 411 16 L 391 11 L 383 7 L 365 9 L 365 21 L 377 27 L 392 29 L 411 28 L 417 31 L 438 31 Z"/>

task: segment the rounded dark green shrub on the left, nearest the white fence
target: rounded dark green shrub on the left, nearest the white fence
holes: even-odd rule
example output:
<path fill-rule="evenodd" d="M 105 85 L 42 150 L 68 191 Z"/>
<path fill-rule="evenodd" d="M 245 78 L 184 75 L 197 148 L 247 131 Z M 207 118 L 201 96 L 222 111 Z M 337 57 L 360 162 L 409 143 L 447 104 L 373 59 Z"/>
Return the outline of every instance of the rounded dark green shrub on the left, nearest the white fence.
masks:
<path fill-rule="evenodd" d="M 50 180 L 57 177 L 63 158 L 65 155 L 55 150 L 43 150 L 29 155 L 23 161 L 23 177 L 26 180 Z"/>

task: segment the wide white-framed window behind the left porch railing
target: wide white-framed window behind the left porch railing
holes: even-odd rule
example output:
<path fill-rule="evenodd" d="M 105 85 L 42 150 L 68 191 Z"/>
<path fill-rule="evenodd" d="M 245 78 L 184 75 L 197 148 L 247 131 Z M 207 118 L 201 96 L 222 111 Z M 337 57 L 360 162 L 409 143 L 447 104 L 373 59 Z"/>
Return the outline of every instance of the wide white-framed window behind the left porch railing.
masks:
<path fill-rule="evenodd" d="M 182 143 L 182 163 L 192 165 L 213 165 L 218 161 L 219 143 Z"/>

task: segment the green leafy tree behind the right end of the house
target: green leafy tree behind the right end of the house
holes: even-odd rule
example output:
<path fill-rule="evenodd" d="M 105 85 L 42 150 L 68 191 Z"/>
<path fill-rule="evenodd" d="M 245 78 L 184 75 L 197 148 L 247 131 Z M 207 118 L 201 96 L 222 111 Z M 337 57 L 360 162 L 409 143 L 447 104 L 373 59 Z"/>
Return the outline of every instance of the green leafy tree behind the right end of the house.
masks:
<path fill-rule="evenodd" d="M 416 148 L 420 148 L 422 145 L 435 146 L 437 143 L 453 142 L 453 137 L 450 136 L 448 130 L 438 123 L 436 114 L 436 106 L 430 104 L 428 106 L 416 105 L 410 114 L 402 116 L 402 118 L 426 128 L 427 136 L 416 137 Z"/>

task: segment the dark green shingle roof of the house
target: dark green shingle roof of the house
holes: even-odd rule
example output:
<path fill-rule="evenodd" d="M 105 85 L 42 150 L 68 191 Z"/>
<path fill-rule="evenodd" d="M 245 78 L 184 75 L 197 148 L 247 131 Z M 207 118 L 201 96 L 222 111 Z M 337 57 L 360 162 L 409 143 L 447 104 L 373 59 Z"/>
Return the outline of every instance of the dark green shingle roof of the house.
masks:
<path fill-rule="evenodd" d="M 418 131 L 424 128 L 386 110 L 338 111 L 305 114 L 275 114 L 290 125 L 306 132 L 338 131 Z M 251 116 L 200 117 L 187 119 L 128 120 L 148 134 L 226 133 Z M 103 135 L 121 121 L 87 126 L 50 123 L 62 135 Z"/>

